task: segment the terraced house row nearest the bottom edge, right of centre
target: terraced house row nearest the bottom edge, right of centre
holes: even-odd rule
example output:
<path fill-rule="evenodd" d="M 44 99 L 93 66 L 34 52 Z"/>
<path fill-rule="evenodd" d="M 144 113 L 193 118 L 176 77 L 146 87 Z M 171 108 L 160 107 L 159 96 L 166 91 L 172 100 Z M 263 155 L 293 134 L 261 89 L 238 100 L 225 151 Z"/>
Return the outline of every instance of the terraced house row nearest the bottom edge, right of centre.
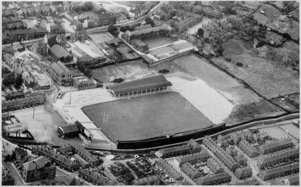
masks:
<path fill-rule="evenodd" d="M 207 175 L 204 177 L 200 177 L 197 179 L 196 184 L 197 185 L 218 185 L 218 184 L 224 184 L 229 183 L 231 181 L 232 176 L 228 173 L 219 173 L 214 175 Z"/>

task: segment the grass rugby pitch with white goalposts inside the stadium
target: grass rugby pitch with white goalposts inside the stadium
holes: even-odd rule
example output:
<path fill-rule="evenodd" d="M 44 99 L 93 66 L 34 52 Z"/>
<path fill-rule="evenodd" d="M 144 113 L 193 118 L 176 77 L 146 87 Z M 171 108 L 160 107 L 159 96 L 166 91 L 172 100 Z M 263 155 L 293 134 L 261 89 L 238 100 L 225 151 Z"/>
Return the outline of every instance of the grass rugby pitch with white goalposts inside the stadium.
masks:
<path fill-rule="evenodd" d="M 211 122 L 177 92 L 141 96 L 83 107 L 111 141 L 142 140 L 210 126 Z M 103 122 L 104 112 L 108 123 Z"/>

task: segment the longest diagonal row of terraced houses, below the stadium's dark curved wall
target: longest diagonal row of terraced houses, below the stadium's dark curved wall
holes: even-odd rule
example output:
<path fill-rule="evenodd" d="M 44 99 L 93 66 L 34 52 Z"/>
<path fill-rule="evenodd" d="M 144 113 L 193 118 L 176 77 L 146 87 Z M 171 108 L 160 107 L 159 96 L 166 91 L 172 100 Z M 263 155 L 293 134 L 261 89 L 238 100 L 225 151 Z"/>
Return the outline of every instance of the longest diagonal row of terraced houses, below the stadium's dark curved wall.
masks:
<path fill-rule="evenodd" d="M 237 162 L 225 151 L 223 148 L 217 145 L 217 143 L 209 136 L 203 138 L 203 144 L 231 171 L 240 166 Z"/>

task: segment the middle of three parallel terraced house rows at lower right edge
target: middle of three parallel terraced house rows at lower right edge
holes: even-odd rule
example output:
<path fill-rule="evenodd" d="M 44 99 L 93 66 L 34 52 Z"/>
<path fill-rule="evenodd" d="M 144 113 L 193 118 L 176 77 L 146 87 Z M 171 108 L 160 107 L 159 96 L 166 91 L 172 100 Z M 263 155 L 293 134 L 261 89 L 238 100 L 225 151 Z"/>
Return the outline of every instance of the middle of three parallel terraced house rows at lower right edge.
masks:
<path fill-rule="evenodd" d="M 299 148 L 288 148 L 268 154 L 257 162 L 259 169 L 265 169 L 278 163 L 287 162 L 289 159 L 299 158 Z"/>

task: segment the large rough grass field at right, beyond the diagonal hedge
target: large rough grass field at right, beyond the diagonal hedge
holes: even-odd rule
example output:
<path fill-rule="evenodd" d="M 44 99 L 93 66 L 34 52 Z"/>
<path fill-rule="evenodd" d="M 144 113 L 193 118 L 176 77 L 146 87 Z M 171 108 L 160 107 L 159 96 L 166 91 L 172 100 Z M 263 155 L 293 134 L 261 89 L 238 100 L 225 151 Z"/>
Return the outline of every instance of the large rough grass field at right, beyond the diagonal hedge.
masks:
<path fill-rule="evenodd" d="M 281 51 L 273 52 L 272 55 L 269 55 L 269 51 L 267 51 L 266 58 L 263 58 L 256 55 L 256 50 L 252 46 L 246 45 L 240 39 L 230 39 L 223 44 L 223 48 L 224 56 L 230 57 L 232 61 L 228 62 L 224 57 L 212 60 L 231 74 L 244 80 L 255 91 L 268 99 L 299 91 L 298 72 L 283 65 L 280 61 L 282 56 L 276 58 L 277 55 L 281 55 Z M 289 50 L 283 52 L 283 55 L 287 55 L 288 52 L 298 53 L 284 47 L 275 50 Z M 260 51 L 262 52 L 262 50 Z M 269 58 L 273 58 L 273 60 L 269 60 Z M 237 62 L 243 63 L 243 67 L 237 66 Z"/>

